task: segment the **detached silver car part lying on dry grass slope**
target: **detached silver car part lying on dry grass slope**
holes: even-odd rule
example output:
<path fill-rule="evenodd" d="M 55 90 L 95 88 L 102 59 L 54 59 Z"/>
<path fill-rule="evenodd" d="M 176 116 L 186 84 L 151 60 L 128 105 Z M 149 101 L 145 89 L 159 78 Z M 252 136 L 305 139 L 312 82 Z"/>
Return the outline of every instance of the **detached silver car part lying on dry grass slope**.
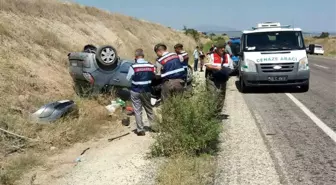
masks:
<path fill-rule="evenodd" d="M 70 113 L 78 114 L 75 102 L 72 100 L 61 100 L 42 106 L 31 115 L 31 119 L 39 123 L 47 123 L 56 121 Z"/>

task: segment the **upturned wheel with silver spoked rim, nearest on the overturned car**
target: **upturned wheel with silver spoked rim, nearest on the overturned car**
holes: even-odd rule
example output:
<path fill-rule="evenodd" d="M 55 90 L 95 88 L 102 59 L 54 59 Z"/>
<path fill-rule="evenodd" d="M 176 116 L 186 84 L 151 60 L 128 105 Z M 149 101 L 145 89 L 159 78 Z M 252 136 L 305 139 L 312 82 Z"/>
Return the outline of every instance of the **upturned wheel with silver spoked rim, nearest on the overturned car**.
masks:
<path fill-rule="evenodd" d="M 114 70 L 117 67 L 118 54 L 112 46 L 99 47 L 96 53 L 98 66 L 103 70 Z"/>

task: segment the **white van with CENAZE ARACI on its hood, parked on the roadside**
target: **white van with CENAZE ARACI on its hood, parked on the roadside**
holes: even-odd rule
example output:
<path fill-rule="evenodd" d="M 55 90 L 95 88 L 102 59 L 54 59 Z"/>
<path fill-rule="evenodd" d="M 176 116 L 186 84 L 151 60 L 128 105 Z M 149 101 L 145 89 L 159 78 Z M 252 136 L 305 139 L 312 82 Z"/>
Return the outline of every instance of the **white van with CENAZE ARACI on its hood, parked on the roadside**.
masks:
<path fill-rule="evenodd" d="M 299 86 L 309 90 L 310 70 L 300 28 L 260 23 L 243 31 L 239 62 L 240 90 L 260 86 Z"/>

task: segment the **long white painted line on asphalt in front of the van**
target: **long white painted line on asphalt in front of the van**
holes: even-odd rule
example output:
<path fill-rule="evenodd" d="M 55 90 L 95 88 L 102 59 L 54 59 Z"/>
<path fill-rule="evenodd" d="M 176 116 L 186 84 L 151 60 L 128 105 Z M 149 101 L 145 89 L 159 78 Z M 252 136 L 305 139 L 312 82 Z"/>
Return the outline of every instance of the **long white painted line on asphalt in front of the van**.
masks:
<path fill-rule="evenodd" d="M 292 94 L 286 93 L 286 95 L 311 119 L 313 122 L 322 129 L 334 142 L 336 142 L 336 133 L 329 128 L 323 121 L 321 121 L 314 113 L 312 113 L 306 106 L 304 106 L 298 99 Z"/>

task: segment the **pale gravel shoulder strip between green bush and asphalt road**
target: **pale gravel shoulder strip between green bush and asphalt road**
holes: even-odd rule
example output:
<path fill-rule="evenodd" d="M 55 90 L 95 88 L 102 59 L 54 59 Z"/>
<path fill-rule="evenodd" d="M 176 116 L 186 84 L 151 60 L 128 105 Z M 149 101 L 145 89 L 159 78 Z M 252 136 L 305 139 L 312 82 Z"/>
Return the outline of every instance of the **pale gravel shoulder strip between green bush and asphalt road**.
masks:
<path fill-rule="evenodd" d="M 215 185 L 281 184 L 279 175 L 233 77 L 228 82 Z"/>

